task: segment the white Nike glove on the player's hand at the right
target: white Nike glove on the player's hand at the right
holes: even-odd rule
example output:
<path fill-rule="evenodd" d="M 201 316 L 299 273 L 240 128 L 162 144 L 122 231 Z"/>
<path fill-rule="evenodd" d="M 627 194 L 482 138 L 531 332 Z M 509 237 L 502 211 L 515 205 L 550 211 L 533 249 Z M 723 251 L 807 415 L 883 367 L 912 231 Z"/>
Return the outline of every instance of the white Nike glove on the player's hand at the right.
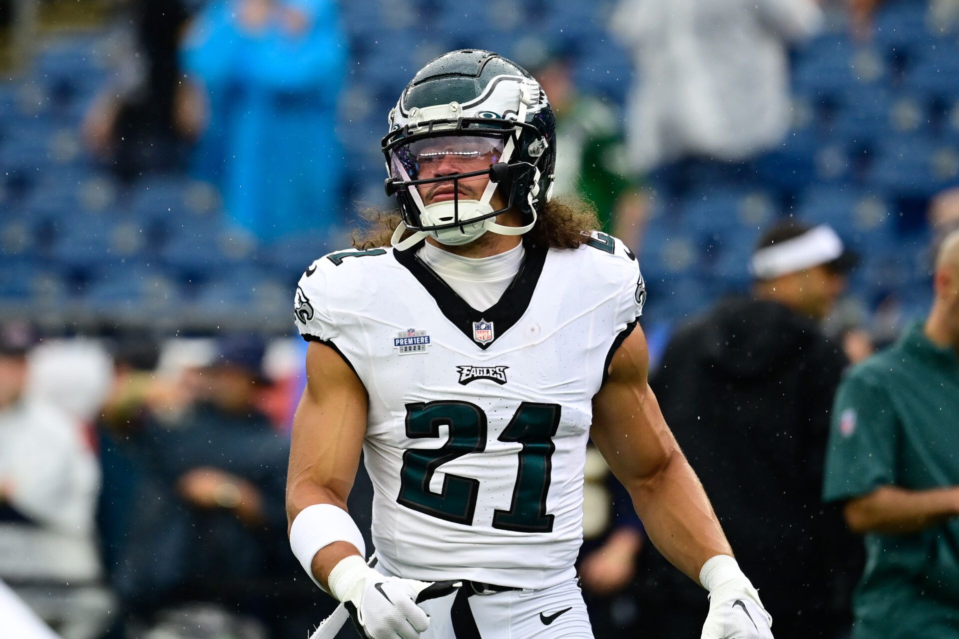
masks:
<path fill-rule="evenodd" d="M 773 639 L 769 629 L 773 618 L 736 559 L 725 555 L 710 559 L 699 581 L 710 591 L 710 612 L 701 639 Z"/>

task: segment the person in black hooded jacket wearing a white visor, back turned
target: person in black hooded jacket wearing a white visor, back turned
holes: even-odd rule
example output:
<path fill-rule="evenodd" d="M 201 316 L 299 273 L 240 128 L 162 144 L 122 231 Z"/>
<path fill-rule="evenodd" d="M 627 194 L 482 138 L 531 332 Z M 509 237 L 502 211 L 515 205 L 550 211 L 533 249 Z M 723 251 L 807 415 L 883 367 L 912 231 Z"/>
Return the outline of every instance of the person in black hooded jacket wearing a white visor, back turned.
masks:
<path fill-rule="evenodd" d="M 827 226 L 773 227 L 752 257 L 752 297 L 720 301 L 678 331 L 652 382 L 739 564 L 756 576 L 777 639 L 833 637 L 848 615 L 836 606 L 852 585 L 842 582 L 843 553 L 854 540 L 819 497 L 831 399 L 847 361 L 818 322 L 850 262 Z M 658 582 L 649 627 L 696 636 L 702 593 L 664 559 L 650 563 Z M 688 628 L 676 625 L 683 619 Z"/>

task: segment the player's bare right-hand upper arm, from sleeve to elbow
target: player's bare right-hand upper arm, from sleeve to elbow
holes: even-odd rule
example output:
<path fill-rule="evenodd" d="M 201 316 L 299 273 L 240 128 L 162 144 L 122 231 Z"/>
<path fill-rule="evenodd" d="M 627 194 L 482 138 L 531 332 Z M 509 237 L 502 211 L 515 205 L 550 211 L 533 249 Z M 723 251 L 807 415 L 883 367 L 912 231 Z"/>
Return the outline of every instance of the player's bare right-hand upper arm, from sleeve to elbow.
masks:
<path fill-rule="evenodd" d="M 679 448 L 647 380 L 646 338 L 637 327 L 613 355 L 593 399 L 591 437 L 627 488 L 665 468 Z"/>

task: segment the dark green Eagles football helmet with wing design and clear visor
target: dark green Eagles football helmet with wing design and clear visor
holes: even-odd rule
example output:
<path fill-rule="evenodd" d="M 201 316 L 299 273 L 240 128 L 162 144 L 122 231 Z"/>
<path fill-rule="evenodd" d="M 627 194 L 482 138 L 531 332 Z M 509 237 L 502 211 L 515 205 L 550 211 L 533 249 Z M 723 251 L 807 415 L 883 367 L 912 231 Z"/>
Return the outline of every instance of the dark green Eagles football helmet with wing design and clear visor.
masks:
<path fill-rule="evenodd" d="M 403 216 L 399 250 L 427 236 L 456 245 L 487 231 L 522 235 L 550 200 L 556 118 L 539 83 L 502 56 L 463 49 L 433 59 L 390 110 L 389 129 L 385 186 Z M 523 226 L 496 223 L 510 209 Z"/>

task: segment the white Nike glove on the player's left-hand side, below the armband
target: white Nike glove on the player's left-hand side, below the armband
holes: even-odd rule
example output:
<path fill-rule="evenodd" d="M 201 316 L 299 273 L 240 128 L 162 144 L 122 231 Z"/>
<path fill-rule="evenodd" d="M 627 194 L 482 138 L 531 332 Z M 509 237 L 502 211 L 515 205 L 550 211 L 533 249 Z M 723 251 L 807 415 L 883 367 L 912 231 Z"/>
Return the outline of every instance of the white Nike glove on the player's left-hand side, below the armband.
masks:
<path fill-rule="evenodd" d="M 448 595 L 462 585 L 386 577 L 356 555 L 339 561 L 327 581 L 330 594 L 346 605 L 353 623 L 368 639 L 419 639 L 430 628 L 430 615 L 416 604 Z"/>

